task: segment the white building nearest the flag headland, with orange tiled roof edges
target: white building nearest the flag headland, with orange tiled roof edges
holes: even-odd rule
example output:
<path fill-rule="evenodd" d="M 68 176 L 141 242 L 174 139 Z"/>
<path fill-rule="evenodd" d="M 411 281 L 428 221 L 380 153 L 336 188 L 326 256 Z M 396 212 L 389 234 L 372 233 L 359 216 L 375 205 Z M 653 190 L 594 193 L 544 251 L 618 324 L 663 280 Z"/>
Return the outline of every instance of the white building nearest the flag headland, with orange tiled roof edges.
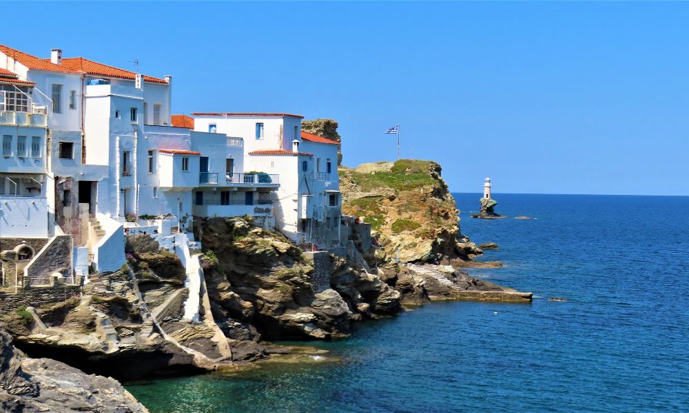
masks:
<path fill-rule="evenodd" d="M 280 177 L 270 196 L 276 228 L 297 244 L 340 246 L 339 142 L 301 131 L 303 116 L 194 113 L 193 127 L 242 139 L 243 169 Z M 180 122 L 191 124 L 188 118 Z"/>

